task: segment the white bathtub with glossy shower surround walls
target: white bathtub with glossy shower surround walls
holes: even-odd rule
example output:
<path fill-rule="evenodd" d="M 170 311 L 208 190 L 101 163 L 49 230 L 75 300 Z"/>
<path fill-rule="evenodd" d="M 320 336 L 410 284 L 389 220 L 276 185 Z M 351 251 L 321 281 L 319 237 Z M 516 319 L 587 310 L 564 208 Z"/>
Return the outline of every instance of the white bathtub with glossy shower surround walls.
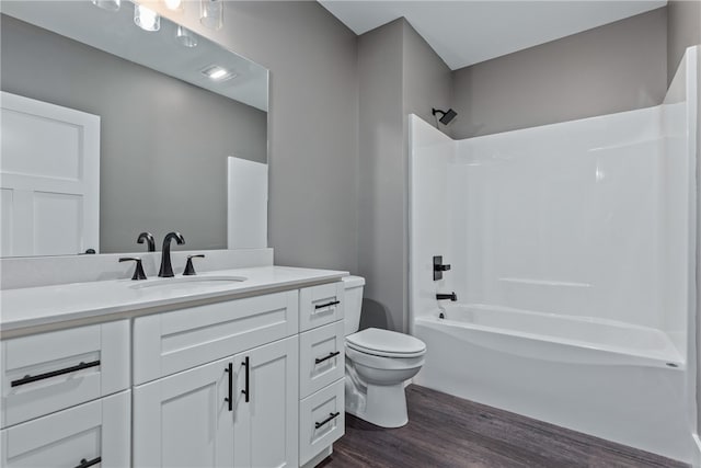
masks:
<path fill-rule="evenodd" d="M 698 60 L 656 107 L 464 140 L 410 117 L 417 384 L 692 460 Z"/>

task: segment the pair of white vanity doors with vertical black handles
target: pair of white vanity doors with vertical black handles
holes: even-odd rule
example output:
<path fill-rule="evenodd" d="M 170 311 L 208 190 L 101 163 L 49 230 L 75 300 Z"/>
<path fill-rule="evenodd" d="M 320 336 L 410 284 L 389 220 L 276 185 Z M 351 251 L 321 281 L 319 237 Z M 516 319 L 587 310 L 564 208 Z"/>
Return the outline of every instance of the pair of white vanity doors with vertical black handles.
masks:
<path fill-rule="evenodd" d="M 297 466 L 297 336 L 134 389 L 135 467 Z"/>

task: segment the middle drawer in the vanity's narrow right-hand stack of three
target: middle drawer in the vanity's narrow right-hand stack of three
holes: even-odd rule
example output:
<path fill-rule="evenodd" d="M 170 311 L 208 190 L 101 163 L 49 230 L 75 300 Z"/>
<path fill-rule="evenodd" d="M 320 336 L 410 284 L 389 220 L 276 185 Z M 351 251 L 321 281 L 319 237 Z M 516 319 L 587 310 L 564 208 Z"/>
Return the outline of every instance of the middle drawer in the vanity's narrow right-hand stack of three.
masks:
<path fill-rule="evenodd" d="M 308 397 L 345 375 L 344 322 L 299 335 L 299 396 Z"/>

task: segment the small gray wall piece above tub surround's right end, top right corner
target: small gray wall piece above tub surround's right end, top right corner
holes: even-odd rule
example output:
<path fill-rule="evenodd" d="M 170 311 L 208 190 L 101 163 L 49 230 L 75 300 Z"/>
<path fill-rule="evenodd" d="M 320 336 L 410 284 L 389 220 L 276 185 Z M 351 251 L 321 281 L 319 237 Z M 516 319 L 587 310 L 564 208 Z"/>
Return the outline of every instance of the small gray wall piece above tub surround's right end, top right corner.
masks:
<path fill-rule="evenodd" d="M 701 44 L 701 1 L 667 3 L 667 82 L 670 83 L 687 47 Z"/>

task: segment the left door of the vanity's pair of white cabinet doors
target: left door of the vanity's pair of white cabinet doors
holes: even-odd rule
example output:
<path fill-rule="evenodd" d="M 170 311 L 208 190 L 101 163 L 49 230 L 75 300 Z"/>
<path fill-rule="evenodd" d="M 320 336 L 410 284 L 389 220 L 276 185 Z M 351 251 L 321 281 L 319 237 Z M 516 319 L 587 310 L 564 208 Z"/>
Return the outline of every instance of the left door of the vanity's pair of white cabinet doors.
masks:
<path fill-rule="evenodd" d="M 216 361 L 134 388 L 134 466 L 233 465 L 232 363 Z"/>

